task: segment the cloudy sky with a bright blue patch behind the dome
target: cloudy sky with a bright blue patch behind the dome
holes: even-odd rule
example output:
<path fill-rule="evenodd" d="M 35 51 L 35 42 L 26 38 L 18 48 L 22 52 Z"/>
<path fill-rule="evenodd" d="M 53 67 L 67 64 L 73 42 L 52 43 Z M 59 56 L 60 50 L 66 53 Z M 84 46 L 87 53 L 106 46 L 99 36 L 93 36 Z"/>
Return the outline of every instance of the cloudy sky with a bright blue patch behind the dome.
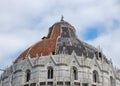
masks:
<path fill-rule="evenodd" d="M 0 0 L 0 68 L 64 20 L 120 68 L 120 0 Z"/>

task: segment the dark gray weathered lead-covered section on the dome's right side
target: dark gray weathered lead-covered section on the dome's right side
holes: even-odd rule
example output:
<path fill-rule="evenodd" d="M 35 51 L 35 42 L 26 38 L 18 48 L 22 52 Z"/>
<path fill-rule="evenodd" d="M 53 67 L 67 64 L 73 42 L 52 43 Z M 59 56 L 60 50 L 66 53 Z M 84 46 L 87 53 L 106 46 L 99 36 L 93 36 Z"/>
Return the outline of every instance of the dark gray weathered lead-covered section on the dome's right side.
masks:
<path fill-rule="evenodd" d="M 82 54 L 90 58 L 94 57 L 95 50 L 86 47 L 75 35 L 73 29 L 62 27 L 61 36 L 57 40 L 56 54 L 65 53 L 71 55 L 74 51 L 78 56 Z"/>

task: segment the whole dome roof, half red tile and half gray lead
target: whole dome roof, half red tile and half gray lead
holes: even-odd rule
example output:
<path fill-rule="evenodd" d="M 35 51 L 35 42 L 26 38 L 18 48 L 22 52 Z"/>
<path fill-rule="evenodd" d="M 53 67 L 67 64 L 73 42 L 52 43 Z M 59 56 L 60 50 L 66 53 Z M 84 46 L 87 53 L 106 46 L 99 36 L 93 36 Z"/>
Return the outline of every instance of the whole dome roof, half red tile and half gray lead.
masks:
<path fill-rule="evenodd" d="M 96 56 L 98 55 L 95 47 L 79 40 L 75 28 L 68 22 L 62 20 L 53 24 L 49 28 L 48 35 L 24 51 L 15 62 L 25 59 L 27 55 L 31 58 L 35 58 L 36 55 L 50 55 L 50 53 L 71 55 L 73 51 L 78 56 L 84 55 L 89 58 L 93 58 L 94 54 Z"/>

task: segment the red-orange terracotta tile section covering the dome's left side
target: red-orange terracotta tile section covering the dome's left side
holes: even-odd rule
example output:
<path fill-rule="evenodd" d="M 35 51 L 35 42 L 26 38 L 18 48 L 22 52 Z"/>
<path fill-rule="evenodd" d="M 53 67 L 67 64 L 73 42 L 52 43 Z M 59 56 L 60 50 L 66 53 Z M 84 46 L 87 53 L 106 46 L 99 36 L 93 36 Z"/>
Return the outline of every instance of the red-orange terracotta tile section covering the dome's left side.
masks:
<path fill-rule="evenodd" d="M 14 63 L 23 60 L 29 55 L 31 58 L 35 58 L 38 56 L 46 56 L 52 52 L 55 52 L 56 49 L 56 41 L 58 36 L 60 36 L 60 24 L 55 24 L 49 29 L 49 33 L 47 37 L 43 37 L 42 41 L 34 44 L 25 50 Z"/>

